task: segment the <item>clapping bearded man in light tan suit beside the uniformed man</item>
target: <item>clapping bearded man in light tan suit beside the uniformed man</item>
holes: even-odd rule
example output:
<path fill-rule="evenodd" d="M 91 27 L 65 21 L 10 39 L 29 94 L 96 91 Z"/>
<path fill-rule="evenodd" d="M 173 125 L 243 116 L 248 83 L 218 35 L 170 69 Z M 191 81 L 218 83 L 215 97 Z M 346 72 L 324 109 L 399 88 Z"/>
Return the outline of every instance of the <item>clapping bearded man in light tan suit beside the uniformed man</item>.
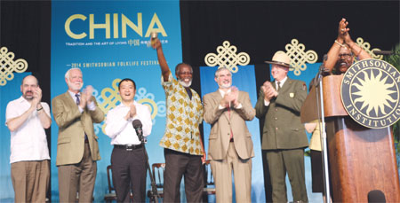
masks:
<path fill-rule="evenodd" d="M 204 96 L 204 121 L 212 125 L 208 154 L 215 180 L 217 202 L 232 202 L 232 172 L 236 202 L 252 202 L 252 135 L 245 121 L 255 110 L 249 94 L 232 85 L 226 67 L 215 72 L 220 89 Z"/>

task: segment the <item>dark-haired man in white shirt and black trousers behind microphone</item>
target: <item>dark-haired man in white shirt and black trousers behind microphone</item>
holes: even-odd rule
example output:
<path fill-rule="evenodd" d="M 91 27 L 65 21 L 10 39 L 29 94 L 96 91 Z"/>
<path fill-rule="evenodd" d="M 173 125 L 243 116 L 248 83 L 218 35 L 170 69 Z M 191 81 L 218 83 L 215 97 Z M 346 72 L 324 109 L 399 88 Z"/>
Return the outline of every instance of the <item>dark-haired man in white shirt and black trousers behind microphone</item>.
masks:
<path fill-rule="evenodd" d="M 132 121 L 142 123 L 143 137 L 151 133 L 152 121 L 148 106 L 134 101 L 136 84 L 131 79 L 124 79 L 118 85 L 121 104 L 108 112 L 106 135 L 114 145 L 111 154 L 113 183 L 116 188 L 117 202 L 146 200 L 146 158 L 142 149 L 141 138 L 133 128 Z"/>

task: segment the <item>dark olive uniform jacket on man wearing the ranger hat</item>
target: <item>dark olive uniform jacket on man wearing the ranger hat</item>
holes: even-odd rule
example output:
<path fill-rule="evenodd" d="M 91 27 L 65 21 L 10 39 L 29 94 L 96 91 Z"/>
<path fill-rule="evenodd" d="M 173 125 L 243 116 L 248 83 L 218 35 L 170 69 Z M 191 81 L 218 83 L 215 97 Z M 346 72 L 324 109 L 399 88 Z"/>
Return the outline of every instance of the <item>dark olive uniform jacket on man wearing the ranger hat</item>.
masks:
<path fill-rule="evenodd" d="M 275 87 L 275 82 L 272 83 Z M 306 83 L 287 78 L 278 96 L 264 104 L 264 92 L 260 89 L 255 106 L 256 117 L 265 117 L 262 131 L 262 149 L 296 149 L 308 146 L 304 125 L 300 122 L 300 108 L 307 97 Z"/>

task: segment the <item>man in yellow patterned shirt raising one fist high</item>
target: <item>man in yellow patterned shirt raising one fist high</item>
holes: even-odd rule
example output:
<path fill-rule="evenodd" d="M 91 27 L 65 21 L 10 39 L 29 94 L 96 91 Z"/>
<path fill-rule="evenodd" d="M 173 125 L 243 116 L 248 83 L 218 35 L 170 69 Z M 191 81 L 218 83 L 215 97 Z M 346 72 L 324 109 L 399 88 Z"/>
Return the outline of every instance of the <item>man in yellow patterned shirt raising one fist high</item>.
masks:
<path fill-rule="evenodd" d="M 197 92 L 190 88 L 193 69 L 188 64 L 178 64 L 175 80 L 159 39 L 153 43 L 153 48 L 161 67 L 167 106 L 165 132 L 160 142 L 165 158 L 164 202 L 180 202 L 182 176 L 188 202 L 201 202 L 205 152 L 198 126 L 203 121 L 203 105 Z"/>

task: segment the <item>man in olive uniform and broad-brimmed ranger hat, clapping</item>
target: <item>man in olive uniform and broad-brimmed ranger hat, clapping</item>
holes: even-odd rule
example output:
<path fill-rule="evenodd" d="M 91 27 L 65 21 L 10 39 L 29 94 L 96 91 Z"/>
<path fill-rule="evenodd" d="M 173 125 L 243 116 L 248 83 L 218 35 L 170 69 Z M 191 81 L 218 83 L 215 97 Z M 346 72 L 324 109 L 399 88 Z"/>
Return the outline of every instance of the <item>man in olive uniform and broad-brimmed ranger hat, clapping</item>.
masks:
<path fill-rule="evenodd" d="M 287 77 L 290 58 L 277 51 L 272 61 L 274 82 L 264 82 L 255 106 L 256 117 L 265 118 L 262 149 L 266 152 L 272 184 L 272 200 L 287 202 L 286 172 L 292 185 L 293 202 L 307 202 L 304 148 L 308 139 L 300 122 L 300 107 L 307 97 L 306 83 Z"/>

